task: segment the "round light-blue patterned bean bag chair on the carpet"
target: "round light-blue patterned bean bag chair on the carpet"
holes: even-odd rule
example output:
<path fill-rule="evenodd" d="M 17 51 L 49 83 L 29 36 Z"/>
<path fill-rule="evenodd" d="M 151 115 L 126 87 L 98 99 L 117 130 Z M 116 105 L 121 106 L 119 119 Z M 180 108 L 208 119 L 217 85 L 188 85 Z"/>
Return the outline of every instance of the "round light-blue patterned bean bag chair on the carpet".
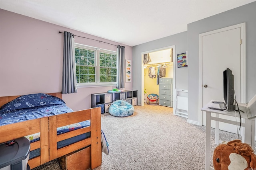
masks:
<path fill-rule="evenodd" d="M 124 100 L 116 100 L 108 108 L 108 112 L 112 116 L 126 117 L 133 114 L 134 107 Z"/>

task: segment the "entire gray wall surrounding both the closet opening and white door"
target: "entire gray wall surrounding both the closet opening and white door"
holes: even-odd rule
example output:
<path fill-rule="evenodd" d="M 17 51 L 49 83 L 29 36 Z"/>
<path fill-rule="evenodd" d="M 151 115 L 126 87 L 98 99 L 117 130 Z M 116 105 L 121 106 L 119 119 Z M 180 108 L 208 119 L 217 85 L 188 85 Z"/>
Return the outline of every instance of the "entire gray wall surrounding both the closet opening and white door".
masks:
<path fill-rule="evenodd" d="M 256 94 L 256 2 L 188 24 L 188 31 L 132 47 L 133 88 L 141 96 L 140 53 L 175 45 L 188 50 L 188 67 L 177 68 L 176 88 L 188 89 L 188 121 L 199 124 L 199 34 L 246 22 L 246 102 Z"/>

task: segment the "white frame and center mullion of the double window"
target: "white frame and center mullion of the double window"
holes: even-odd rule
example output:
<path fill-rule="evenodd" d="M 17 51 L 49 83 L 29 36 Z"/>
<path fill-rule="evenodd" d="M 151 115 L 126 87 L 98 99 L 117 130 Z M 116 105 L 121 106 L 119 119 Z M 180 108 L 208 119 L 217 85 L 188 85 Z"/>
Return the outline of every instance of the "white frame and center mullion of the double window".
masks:
<path fill-rule="evenodd" d="M 117 51 L 111 51 L 107 49 L 100 49 L 88 45 L 74 43 L 75 48 L 88 49 L 95 51 L 95 81 L 93 83 L 77 83 L 77 88 L 88 88 L 88 87 L 104 87 L 104 86 L 116 86 L 117 82 L 100 82 L 100 52 L 117 55 Z M 116 68 L 118 68 L 118 62 L 116 62 Z M 118 78 L 118 72 L 116 72 L 116 79 Z"/>

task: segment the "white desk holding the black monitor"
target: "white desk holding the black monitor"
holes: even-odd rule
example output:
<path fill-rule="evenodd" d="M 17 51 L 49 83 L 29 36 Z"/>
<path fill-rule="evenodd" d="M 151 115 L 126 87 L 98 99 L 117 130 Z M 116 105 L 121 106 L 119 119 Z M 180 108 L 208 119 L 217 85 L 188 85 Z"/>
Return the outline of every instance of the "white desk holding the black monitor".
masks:
<path fill-rule="evenodd" d="M 221 111 L 221 110 L 214 110 L 209 109 L 208 107 L 219 107 L 219 104 L 213 104 L 211 100 L 206 106 L 204 106 L 201 110 L 206 111 L 206 148 L 205 148 L 205 169 L 206 170 L 213 170 L 210 166 L 210 145 L 211 145 L 211 120 L 215 120 L 216 127 L 215 127 L 215 143 L 219 144 L 219 122 L 229 123 L 232 125 L 236 125 L 236 121 L 231 121 L 227 119 L 219 118 L 219 115 L 229 115 L 234 117 L 234 111 Z M 215 117 L 212 117 L 211 113 L 216 113 Z M 248 143 L 251 145 L 252 149 L 254 149 L 254 135 L 255 135 L 255 118 L 248 119 L 246 113 L 241 112 L 241 117 L 244 118 L 244 123 L 242 123 L 242 127 L 244 127 L 244 136 L 242 138 L 243 143 Z"/>

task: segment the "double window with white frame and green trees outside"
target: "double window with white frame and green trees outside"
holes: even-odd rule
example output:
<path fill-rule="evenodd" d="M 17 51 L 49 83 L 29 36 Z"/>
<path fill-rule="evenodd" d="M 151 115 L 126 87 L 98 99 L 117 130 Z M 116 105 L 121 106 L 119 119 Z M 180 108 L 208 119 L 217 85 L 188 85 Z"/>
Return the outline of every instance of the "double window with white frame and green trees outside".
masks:
<path fill-rule="evenodd" d="M 75 43 L 75 59 L 78 86 L 116 84 L 116 51 Z"/>

